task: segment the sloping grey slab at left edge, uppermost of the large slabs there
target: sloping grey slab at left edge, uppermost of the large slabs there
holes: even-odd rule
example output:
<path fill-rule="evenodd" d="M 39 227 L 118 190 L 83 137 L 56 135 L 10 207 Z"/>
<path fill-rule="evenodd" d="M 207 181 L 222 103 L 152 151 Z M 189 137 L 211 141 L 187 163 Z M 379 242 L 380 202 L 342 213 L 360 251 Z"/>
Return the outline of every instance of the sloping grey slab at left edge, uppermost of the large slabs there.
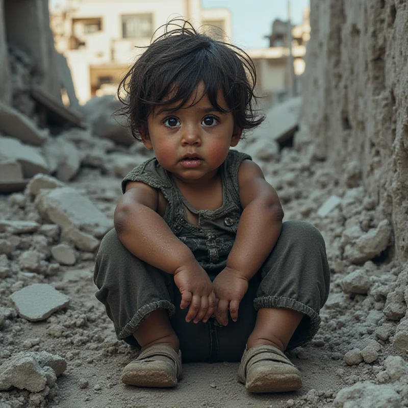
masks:
<path fill-rule="evenodd" d="M 34 120 L 2 102 L 0 102 L 0 132 L 33 146 L 41 146 L 49 136 L 48 130 L 39 129 Z"/>

